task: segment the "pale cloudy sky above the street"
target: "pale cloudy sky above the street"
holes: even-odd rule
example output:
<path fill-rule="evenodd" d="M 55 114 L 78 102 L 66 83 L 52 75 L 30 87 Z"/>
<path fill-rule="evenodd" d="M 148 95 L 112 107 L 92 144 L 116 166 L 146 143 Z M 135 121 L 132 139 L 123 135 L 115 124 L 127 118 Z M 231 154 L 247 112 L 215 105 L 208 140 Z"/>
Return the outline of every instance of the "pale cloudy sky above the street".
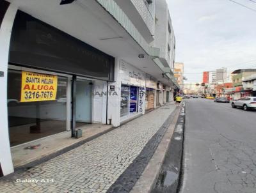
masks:
<path fill-rule="evenodd" d="M 166 0 L 176 38 L 175 61 L 184 62 L 186 82 L 227 67 L 256 68 L 256 0 Z"/>

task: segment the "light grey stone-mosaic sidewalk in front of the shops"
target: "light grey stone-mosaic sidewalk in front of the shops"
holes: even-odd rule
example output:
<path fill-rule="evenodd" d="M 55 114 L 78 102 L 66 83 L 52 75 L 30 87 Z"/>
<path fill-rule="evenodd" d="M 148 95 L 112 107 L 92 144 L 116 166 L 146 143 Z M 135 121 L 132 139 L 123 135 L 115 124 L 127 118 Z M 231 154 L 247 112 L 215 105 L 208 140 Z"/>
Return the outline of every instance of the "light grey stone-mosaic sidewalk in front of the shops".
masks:
<path fill-rule="evenodd" d="M 107 192 L 174 110 L 174 104 L 163 105 L 67 153 L 1 178 L 0 192 Z"/>

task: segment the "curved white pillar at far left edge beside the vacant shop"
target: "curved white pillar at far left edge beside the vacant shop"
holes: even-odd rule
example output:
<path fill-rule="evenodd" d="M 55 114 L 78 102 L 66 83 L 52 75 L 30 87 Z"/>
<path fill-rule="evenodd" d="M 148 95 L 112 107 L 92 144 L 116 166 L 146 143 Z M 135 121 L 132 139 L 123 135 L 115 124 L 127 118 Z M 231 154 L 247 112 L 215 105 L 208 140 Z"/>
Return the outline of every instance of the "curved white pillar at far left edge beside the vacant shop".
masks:
<path fill-rule="evenodd" d="M 0 71 L 4 72 L 4 77 L 0 77 L 0 162 L 4 175 L 13 173 L 12 156 L 10 151 L 10 141 L 8 134 L 6 88 L 10 36 L 12 33 L 13 20 L 15 18 L 16 12 L 17 7 L 10 4 L 0 28 Z"/>

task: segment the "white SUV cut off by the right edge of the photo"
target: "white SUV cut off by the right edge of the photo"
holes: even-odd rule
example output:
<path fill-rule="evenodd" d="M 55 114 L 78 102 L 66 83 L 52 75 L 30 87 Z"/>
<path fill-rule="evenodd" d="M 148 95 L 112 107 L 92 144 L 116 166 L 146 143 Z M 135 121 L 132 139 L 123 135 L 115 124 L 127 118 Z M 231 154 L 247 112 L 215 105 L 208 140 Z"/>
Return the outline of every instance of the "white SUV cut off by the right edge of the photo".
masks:
<path fill-rule="evenodd" d="M 244 111 L 256 109 L 256 96 L 245 96 L 239 100 L 233 100 L 231 105 L 233 108 L 242 107 Z"/>

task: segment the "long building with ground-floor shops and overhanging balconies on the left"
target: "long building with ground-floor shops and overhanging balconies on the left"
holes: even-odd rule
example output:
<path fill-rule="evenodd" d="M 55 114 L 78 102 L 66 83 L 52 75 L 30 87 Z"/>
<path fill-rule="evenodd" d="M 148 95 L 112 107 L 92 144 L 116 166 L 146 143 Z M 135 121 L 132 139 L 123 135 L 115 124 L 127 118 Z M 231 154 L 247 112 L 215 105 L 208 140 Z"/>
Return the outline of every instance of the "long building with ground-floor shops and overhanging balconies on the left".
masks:
<path fill-rule="evenodd" d="M 0 40 L 0 177 L 11 146 L 118 127 L 179 87 L 166 0 L 1 0 Z"/>

